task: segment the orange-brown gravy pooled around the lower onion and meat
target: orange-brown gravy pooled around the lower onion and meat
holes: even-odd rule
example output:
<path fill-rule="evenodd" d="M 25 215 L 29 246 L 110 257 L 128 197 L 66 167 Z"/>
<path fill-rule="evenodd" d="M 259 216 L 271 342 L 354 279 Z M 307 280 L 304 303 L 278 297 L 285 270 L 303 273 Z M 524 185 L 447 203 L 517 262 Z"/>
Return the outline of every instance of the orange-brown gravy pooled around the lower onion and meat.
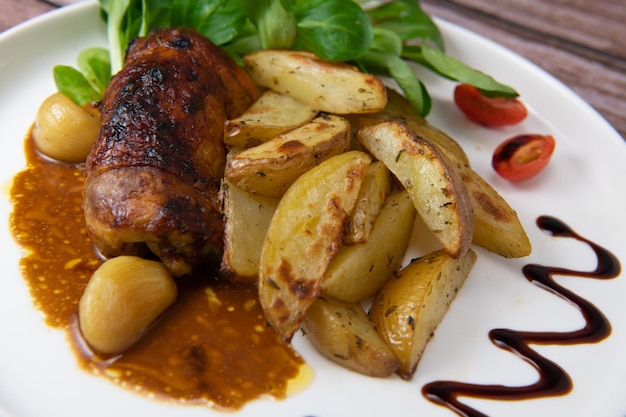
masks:
<path fill-rule="evenodd" d="M 294 381 L 306 383 L 297 379 L 306 376 L 304 361 L 267 327 L 255 287 L 222 282 L 208 268 L 179 280 L 177 302 L 130 350 L 113 358 L 91 352 L 76 317 L 102 260 L 84 224 L 83 171 L 39 156 L 30 135 L 25 155 L 10 218 L 27 251 L 22 276 L 46 323 L 68 332 L 83 369 L 150 397 L 231 411 L 266 396 L 285 398 Z"/>

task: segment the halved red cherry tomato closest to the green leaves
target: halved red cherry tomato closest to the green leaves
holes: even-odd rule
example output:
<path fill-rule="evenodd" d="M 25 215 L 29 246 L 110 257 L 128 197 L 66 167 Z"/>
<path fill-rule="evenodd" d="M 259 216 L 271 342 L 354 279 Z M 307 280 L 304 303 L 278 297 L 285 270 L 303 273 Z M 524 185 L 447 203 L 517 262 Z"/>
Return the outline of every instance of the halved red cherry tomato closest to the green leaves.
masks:
<path fill-rule="evenodd" d="M 526 118 L 526 106 L 515 98 L 488 97 L 470 84 L 454 89 L 454 102 L 472 121 L 487 127 L 514 125 Z"/>

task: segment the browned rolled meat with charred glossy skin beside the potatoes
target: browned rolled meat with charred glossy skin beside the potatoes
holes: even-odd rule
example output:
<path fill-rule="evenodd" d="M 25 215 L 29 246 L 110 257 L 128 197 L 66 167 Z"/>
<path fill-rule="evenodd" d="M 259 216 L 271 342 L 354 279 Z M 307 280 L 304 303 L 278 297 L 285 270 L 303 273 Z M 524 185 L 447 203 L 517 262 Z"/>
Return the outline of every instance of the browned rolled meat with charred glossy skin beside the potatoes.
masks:
<path fill-rule="evenodd" d="M 105 256 L 159 256 L 175 276 L 219 258 L 224 123 L 258 97 L 248 74 L 194 30 L 158 29 L 129 47 L 102 100 L 86 162 L 84 212 Z"/>

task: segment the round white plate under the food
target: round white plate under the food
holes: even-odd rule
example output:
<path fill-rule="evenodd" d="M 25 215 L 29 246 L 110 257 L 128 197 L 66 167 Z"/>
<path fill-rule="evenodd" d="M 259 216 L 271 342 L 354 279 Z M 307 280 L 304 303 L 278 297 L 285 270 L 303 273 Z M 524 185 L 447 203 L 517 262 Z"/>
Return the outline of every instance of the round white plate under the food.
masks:
<path fill-rule="evenodd" d="M 523 265 L 533 262 L 592 269 L 595 258 L 583 244 L 555 239 L 535 226 L 539 215 L 556 216 L 585 237 L 626 260 L 626 145 L 587 104 L 560 82 L 500 46 L 446 22 L 439 22 L 448 52 L 514 85 L 530 109 L 521 125 L 487 130 L 467 122 L 452 101 L 453 84 L 430 74 L 424 79 L 435 102 L 430 120 L 456 137 L 475 169 L 515 207 L 534 246 L 521 260 L 503 260 L 478 250 L 479 260 L 465 287 L 429 344 L 412 382 L 377 380 L 341 369 L 311 350 L 295 347 L 314 367 L 316 378 L 285 401 L 261 400 L 237 416 L 351 415 L 452 416 L 421 395 L 430 381 L 524 385 L 536 372 L 511 353 L 492 345 L 495 327 L 518 330 L 575 330 L 583 320 L 568 303 L 530 284 Z M 41 101 L 55 91 L 51 69 L 73 65 L 78 52 L 106 46 L 95 2 L 64 8 L 0 35 L 0 217 L 14 173 L 24 165 L 23 138 Z M 510 184 L 490 167 L 491 153 L 505 138 L 522 132 L 551 133 L 557 148 L 548 168 L 535 179 Z M 47 328 L 31 304 L 18 270 L 20 250 L 0 222 L 0 415 L 49 416 L 210 416 L 202 407 L 174 407 L 124 391 L 78 369 L 64 333 Z M 626 311 L 623 277 L 603 281 L 559 277 L 558 281 L 599 307 L 611 320 L 612 335 L 598 344 L 540 346 L 574 381 L 565 396 L 528 401 L 468 400 L 488 415 L 624 416 L 626 399 Z M 215 413 L 220 415 L 219 413 Z"/>

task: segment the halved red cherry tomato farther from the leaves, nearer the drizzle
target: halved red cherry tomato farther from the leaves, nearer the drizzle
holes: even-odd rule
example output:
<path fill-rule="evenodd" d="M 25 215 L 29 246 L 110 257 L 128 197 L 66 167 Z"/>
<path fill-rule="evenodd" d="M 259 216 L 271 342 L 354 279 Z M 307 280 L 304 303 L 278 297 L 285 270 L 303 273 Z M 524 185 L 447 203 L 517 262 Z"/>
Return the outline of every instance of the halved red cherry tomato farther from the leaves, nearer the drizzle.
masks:
<path fill-rule="evenodd" d="M 496 148 L 491 165 L 507 180 L 526 180 L 548 165 L 555 145 L 552 135 L 514 136 Z"/>

